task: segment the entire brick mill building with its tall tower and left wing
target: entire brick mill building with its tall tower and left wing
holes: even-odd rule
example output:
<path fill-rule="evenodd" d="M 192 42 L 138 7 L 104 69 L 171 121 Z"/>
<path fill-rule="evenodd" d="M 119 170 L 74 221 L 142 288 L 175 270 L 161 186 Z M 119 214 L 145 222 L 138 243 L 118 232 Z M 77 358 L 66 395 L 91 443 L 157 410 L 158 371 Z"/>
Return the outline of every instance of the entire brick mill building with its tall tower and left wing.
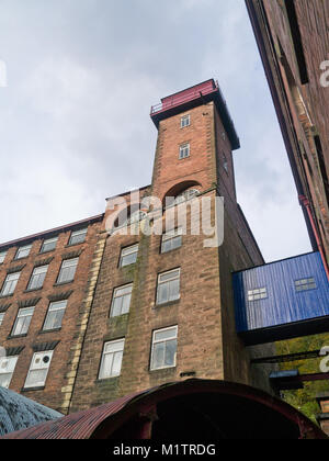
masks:
<path fill-rule="evenodd" d="M 127 192 L 133 235 L 109 232 L 113 198 L 102 215 L 0 246 L 0 383 L 61 413 L 191 376 L 271 391 L 269 369 L 250 360 L 272 346 L 247 349 L 235 327 L 231 272 L 264 261 L 236 199 L 239 139 L 225 100 L 207 80 L 162 99 L 151 119 L 154 176 L 140 200 L 175 201 L 160 233 L 144 232 Z M 224 198 L 223 245 L 205 247 L 194 232 L 196 195 L 209 199 L 213 224 Z M 186 232 L 164 229 L 185 205 Z"/>

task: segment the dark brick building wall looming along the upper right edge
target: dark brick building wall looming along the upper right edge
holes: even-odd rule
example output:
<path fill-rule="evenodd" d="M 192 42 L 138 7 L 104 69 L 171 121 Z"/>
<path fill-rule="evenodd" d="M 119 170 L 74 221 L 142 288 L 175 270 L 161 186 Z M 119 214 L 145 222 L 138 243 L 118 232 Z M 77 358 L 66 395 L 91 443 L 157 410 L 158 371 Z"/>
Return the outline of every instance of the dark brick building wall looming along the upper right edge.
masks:
<path fill-rule="evenodd" d="M 329 274 L 329 1 L 246 3 L 313 247 Z"/>

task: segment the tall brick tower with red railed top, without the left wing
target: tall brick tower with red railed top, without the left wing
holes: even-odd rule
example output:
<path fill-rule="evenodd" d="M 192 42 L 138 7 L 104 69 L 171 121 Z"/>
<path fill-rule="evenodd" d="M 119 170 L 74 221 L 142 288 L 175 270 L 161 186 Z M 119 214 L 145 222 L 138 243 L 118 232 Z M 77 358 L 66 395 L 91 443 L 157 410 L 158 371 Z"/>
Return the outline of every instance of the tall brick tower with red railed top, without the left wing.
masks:
<path fill-rule="evenodd" d="M 258 349 L 247 350 L 235 329 L 231 272 L 264 261 L 237 203 L 232 150 L 239 139 L 218 85 L 207 80 L 162 99 L 151 119 L 158 128 L 154 177 L 140 196 L 162 203 L 195 193 L 223 196 L 224 243 L 205 248 L 205 236 L 192 235 L 189 224 L 186 235 L 177 226 L 162 235 L 109 235 L 70 412 L 188 376 L 269 390 L 265 369 L 250 367 Z M 128 211 L 136 226 L 134 207 Z"/>

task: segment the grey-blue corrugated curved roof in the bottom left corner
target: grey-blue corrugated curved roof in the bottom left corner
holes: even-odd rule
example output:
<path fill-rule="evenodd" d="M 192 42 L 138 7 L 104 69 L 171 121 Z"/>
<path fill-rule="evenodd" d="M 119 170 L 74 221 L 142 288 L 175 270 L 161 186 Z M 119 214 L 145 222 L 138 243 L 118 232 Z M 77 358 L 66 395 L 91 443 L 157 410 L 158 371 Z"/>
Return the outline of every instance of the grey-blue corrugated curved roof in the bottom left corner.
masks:
<path fill-rule="evenodd" d="M 61 416 L 61 413 L 0 387 L 0 436 Z"/>

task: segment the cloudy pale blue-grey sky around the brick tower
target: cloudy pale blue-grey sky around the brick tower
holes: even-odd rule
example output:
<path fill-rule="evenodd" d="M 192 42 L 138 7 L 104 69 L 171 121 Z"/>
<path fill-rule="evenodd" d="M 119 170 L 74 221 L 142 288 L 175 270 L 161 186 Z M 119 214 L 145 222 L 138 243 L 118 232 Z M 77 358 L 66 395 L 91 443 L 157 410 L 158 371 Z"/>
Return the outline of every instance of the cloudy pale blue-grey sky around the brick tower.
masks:
<path fill-rule="evenodd" d="M 266 261 L 310 251 L 243 0 L 0 0 L 0 241 L 151 181 L 160 98 L 218 80 L 238 202 Z"/>

